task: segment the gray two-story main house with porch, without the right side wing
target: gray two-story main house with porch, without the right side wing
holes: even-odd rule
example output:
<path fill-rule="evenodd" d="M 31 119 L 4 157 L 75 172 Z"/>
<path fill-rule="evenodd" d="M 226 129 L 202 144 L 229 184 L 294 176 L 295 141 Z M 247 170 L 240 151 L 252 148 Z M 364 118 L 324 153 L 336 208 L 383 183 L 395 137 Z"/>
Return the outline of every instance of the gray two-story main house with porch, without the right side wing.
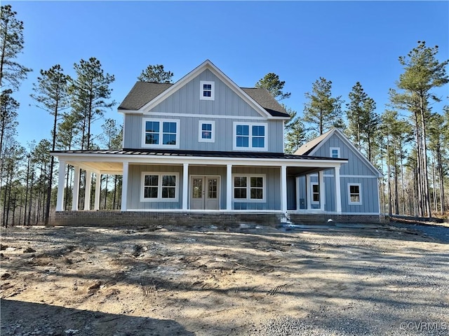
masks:
<path fill-rule="evenodd" d="M 301 176 L 316 173 L 323 185 L 324 171 L 335 176 L 328 186 L 333 195 L 316 195 L 321 204 L 332 202 L 328 209 L 333 213 L 342 214 L 340 167 L 348 161 L 284 154 L 288 113 L 267 90 L 239 87 L 209 60 L 174 84 L 135 83 L 119 112 L 121 151 L 53 152 L 60 162 L 55 223 L 69 216 L 62 211 L 67 164 L 76 168 L 72 211 L 88 211 L 83 217 L 88 222 L 99 209 L 101 174 L 123 175 L 121 211 L 101 211 L 112 222 L 128 221 L 126 213 L 133 214 L 135 223 L 181 221 L 193 214 L 220 220 L 226 214 L 227 221 L 259 221 L 269 214 L 279 219 L 304 211 Z M 97 176 L 93 209 L 91 179 L 86 180 L 83 211 L 76 202 L 80 169 Z"/>

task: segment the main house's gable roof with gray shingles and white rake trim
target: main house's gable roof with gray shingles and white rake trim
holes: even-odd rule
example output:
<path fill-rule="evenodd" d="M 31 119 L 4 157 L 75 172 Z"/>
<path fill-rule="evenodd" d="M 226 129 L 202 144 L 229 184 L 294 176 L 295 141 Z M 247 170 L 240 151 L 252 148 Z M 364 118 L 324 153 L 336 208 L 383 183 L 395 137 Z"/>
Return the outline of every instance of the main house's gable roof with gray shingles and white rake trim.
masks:
<path fill-rule="evenodd" d="M 197 66 L 193 71 L 187 73 L 186 76 L 182 77 L 174 84 L 153 82 L 135 83 L 125 99 L 123 99 L 123 102 L 121 102 L 119 111 L 151 109 L 206 69 L 212 71 L 215 76 L 220 78 L 220 80 L 227 84 L 231 90 L 262 115 L 267 116 L 268 118 L 290 118 L 283 106 L 269 94 L 267 89 L 239 87 L 209 60 L 206 60 L 203 64 Z"/>

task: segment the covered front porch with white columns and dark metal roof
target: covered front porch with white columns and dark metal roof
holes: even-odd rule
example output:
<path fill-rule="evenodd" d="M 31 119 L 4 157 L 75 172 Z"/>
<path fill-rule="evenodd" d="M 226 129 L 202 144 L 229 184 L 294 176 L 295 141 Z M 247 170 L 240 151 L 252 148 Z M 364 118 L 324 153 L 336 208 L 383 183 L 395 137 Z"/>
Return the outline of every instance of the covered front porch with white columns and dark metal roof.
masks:
<path fill-rule="evenodd" d="M 63 211 L 67 165 L 74 169 L 72 211 L 100 209 L 102 174 L 123 176 L 120 211 L 287 214 L 300 209 L 299 176 L 335 172 L 335 209 L 341 212 L 340 165 L 346 160 L 282 153 L 192 153 L 185 151 L 64 151 L 56 211 Z M 86 171 L 84 204 L 79 209 L 81 170 Z M 95 197 L 91 203 L 92 174 Z M 325 204 L 325 193 L 319 193 Z M 316 209 L 314 211 L 317 211 Z M 318 211 L 324 211 L 321 207 Z"/>

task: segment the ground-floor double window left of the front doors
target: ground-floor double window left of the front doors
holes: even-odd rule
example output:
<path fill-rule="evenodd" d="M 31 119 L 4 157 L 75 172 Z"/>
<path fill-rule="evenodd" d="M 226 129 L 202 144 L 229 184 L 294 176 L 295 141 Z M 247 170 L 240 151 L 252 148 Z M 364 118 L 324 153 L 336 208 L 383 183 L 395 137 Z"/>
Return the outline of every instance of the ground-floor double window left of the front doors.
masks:
<path fill-rule="evenodd" d="M 142 202 L 176 202 L 178 181 L 179 174 L 177 173 L 143 172 Z"/>

